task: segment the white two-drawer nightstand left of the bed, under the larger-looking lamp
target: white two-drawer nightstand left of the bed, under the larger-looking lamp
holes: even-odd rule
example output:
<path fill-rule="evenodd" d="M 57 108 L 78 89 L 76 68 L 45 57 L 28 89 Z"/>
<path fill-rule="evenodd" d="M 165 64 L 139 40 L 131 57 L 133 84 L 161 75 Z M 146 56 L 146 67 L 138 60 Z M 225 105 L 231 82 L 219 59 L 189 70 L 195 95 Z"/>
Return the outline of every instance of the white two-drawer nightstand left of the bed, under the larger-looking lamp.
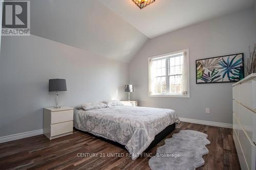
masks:
<path fill-rule="evenodd" d="M 44 135 L 50 140 L 73 134 L 73 108 L 44 108 Z"/>

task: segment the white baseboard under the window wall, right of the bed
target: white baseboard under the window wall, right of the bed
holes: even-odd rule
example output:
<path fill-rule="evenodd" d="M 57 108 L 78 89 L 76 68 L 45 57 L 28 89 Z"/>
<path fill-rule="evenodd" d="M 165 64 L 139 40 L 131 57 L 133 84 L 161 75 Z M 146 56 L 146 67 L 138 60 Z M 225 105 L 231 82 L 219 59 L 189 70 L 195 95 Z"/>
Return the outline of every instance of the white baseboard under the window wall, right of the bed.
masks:
<path fill-rule="evenodd" d="M 188 123 L 193 123 L 193 124 L 200 124 L 200 125 L 208 125 L 208 126 L 217 126 L 217 127 L 222 127 L 222 128 L 233 128 L 232 124 L 225 124 L 225 123 L 219 123 L 219 122 L 210 122 L 210 121 L 205 121 L 205 120 L 197 120 L 197 119 L 191 119 L 191 118 L 183 118 L 179 117 L 181 122 L 188 122 Z"/>

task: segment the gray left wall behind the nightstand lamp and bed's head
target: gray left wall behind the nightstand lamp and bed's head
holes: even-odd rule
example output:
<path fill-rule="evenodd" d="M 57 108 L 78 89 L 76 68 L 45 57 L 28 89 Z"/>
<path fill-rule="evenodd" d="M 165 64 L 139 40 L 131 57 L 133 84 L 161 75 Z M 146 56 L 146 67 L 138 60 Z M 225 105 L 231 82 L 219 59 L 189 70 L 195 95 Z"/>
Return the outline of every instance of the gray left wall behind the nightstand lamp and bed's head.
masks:
<path fill-rule="evenodd" d="M 2 37 L 0 136 L 42 129 L 42 108 L 54 106 L 48 80 L 67 79 L 60 104 L 126 99 L 128 64 L 31 36 Z"/>

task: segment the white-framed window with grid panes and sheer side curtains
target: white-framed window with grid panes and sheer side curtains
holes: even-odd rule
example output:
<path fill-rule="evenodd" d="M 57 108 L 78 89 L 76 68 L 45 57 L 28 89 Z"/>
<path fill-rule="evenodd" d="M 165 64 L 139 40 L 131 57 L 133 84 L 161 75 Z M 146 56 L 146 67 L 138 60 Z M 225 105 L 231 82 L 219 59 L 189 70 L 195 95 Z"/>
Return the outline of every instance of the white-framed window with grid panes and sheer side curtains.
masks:
<path fill-rule="evenodd" d="M 148 58 L 148 92 L 189 98 L 188 50 Z"/>

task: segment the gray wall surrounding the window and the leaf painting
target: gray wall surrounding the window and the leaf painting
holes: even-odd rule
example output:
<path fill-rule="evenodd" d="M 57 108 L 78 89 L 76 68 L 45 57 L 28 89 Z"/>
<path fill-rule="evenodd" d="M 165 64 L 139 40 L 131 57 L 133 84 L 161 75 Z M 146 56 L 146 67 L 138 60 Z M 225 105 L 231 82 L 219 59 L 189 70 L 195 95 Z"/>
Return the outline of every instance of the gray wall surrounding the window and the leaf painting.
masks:
<path fill-rule="evenodd" d="M 130 62 L 131 83 L 135 85 L 133 100 L 140 106 L 171 108 L 180 117 L 232 122 L 232 83 L 196 84 L 196 59 L 244 53 L 256 40 L 254 9 L 211 19 L 148 40 Z M 189 49 L 190 98 L 148 97 L 147 58 Z M 205 113 L 210 108 L 210 114 Z"/>

